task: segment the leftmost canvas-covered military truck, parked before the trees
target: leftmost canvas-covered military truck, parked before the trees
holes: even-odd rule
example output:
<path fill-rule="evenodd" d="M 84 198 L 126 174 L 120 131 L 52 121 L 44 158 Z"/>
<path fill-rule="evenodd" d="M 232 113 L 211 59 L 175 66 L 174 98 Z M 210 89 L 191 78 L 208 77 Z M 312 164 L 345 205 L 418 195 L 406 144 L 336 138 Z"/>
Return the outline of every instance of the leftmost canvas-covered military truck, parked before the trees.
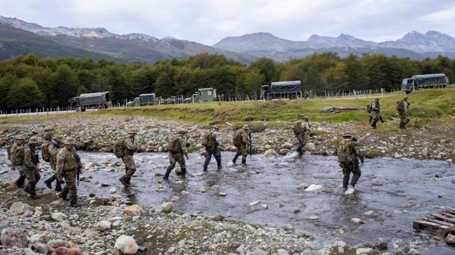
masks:
<path fill-rule="evenodd" d="M 80 94 L 69 99 L 72 110 L 84 112 L 86 109 L 105 109 L 110 107 L 109 91 Z"/>

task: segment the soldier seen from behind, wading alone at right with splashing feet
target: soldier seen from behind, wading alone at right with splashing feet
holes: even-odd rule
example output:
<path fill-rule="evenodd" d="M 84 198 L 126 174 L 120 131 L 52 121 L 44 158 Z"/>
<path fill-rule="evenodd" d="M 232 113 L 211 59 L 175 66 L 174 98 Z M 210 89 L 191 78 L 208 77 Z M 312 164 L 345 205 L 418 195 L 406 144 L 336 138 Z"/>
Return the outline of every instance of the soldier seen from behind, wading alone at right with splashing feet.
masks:
<path fill-rule="evenodd" d="M 354 188 L 355 184 L 360 178 L 360 167 L 358 166 L 358 160 L 360 160 L 361 165 L 363 166 L 363 155 L 360 152 L 360 149 L 356 144 L 357 139 L 352 136 L 351 133 L 346 132 L 343 135 L 336 147 L 336 152 L 338 156 L 338 162 L 340 167 L 343 168 L 343 189 L 347 190 L 349 183 L 349 176 L 352 172 L 351 187 Z"/>

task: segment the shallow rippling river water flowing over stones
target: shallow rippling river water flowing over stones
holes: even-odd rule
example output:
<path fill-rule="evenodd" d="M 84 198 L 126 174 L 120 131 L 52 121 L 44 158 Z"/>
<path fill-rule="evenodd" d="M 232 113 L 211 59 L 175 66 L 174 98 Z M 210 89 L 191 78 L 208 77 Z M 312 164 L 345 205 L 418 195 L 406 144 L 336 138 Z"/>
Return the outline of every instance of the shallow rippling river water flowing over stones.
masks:
<path fill-rule="evenodd" d="M 5 162 L 5 149 L 2 163 Z M 79 152 L 82 162 L 119 161 L 113 154 L 102 152 Z M 429 236 L 416 233 L 413 221 L 432 213 L 455 206 L 455 167 L 443 161 L 403 161 L 391 158 L 367 159 L 362 167 L 362 176 L 357 183 L 357 191 L 350 195 L 342 192 L 342 173 L 336 157 L 304 155 L 303 157 L 278 156 L 264 158 L 262 155 L 248 157 L 248 166 L 229 166 L 232 152 L 222 152 L 223 169 L 216 170 L 212 159 L 209 171 L 201 176 L 191 176 L 202 172 L 204 158 L 190 154 L 187 161 L 187 181 L 180 180 L 174 173 L 168 182 L 159 183 L 161 177 L 155 176 L 158 168 L 165 172 L 168 164 L 167 154 L 142 153 L 134 155 L 138 171 L 131 182 L 135 187 L 122 188 L 118 178 L 121 171 L 110 172 L 101 169 L 85 172 L 89 181 L 81 181 L 78 192 L 95 193 L 109 196 L 108 190 L 116 187 L 116 194 L 133 200 L 142 207 L 159 208 L 165 201 L 174 200 L 174 210 L 185 213 L 214 215 L 221 213 L 229 219 L 251 224 L 285 227 L 292 225 L 296 234 L 310 233 L 317 243 L 332 243 L 343 240 L 348 244 L 375 243 L 385 241 L 389 248 L 426 243 Z M 240 162 L 240 159 L 239 159 Z M 229 172 L 235 167 L 239 172 Z M 6 164 L 0 165 L 0 173 L 7 170 Z M 3 173 L 2 179 L 13 178 L 13 171 Z M 44 171 L 43 180 L 51 175 Z M 436 177 L 435 177 L 436 176 Z M 101 187 L 101 183 L 111 186 Z M 322 185 L 333 193 L 308 192 L 297 189 L 300 183 Z M 159 189 L 159 185 L 164 188 Z M 218 185 L 217 189 L 205 191 L 207 187 Z M 181 191 L 190 192 L 181 195 Z M 205 192 L 202 192 L 205 191 Z M 225 192 L 226 196 L 220 196 Z M 438 198 L 438 194 L 452 194 L 448 198 Z M 177 199 L 178 198 L 178 199 Z M 260 200 L 253 207 L 249 203 Z M 268 209 L 262 209 L 266 204 Z M 294 208 L 300 212 L 294 213 Z M 374 211 L 371 216 L 363 215 Z M 366 223 L 356 226 L 351 218 L 359 218 Z M 340 229 L 344 234 L 339 234 Z M 451 250 L 449 248 L 449 250 Z M 450 252 L 450 251 L 449 251 Z"/>

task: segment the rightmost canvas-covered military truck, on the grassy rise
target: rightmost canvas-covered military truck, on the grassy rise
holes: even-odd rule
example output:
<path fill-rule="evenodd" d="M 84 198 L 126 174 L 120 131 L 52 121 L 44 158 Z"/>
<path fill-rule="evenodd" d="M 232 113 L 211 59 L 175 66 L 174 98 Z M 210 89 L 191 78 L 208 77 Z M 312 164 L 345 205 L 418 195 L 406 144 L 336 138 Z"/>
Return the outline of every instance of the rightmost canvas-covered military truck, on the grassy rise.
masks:
<path fill-rule="evenodd" d="M 403 79 L 401 90 L 409 94 L 416 89 L 445 88 L 448 85 L 448 77 L 445 74 L 422 74 Z"/>

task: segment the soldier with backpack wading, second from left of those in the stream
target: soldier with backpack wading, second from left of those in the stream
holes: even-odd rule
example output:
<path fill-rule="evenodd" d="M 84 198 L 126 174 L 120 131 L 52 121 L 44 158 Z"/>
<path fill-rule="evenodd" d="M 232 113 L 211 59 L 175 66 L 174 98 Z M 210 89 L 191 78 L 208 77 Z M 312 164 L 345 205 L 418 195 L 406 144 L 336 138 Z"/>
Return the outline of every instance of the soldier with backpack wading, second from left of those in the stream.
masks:
<path fill-rule="evenodd" d="M 177 132 L 177 135 L 171 137 L 168 141 L 168 150 L 169 150 L 169 166 L 166 169 L 166 173 L 164 174 L 163 179 L 169 180 L 169 174 L 174 169 L 175 163 L 180 165 L 181 169 L 181 178 L 185 178 L 185 174 L 187 172 L 187 166 L 185 165 L 185 158 L 188 158 L 188 150 L 187 150 L 187 143 L 185 141 L 185 135 L 187 134 L 187 130 L 180 129 Z M 184 158 L 185 156 L 185 158 Z"/>

